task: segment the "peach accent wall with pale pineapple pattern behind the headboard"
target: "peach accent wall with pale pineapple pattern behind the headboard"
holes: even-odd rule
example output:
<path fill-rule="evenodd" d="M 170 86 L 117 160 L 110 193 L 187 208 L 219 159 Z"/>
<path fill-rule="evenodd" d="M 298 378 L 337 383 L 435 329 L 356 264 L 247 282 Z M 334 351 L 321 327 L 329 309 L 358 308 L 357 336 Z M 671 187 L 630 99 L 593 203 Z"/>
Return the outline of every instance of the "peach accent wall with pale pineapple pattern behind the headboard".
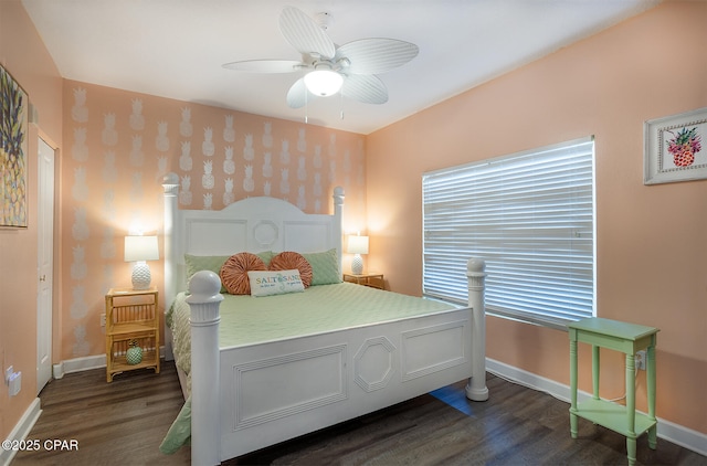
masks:
<path fill-rule="evenodd" d="M 366 229 L 362 135 L 66 81 L 63 139 L 62 359 L 104 351 L 104 295 L 130 286 L 124 236 L 161 234 L 168 172 L 180 209 L 270 195 L 330 213 L 342 186 L 345 231 Z M 161 286 L 161 261 L 149 265 Z"/>

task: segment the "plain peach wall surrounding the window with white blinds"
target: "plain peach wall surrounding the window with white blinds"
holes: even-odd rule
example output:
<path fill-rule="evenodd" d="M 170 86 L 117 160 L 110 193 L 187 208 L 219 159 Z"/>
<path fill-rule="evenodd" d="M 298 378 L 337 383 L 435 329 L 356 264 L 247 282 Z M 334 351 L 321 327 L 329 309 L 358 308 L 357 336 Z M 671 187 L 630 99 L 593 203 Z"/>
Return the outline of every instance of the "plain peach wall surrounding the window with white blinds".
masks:
<path fill-rule="evenodd" d="M 661 329 L 657 414 L 707 434 L 707 180 L 643 184 L 643 123 L 707 107 L 705 24 L 707 3 L 667 2 L 370 135 L 371 267 L 421 294 L 423 172 L 594 135 L 598 315 Z M 569 384 L 566 332 L 487 330 L 489 358 Z M 602 395 L 621 396 L 623 359 L 602 357 Z M 637 392 L 645 411 L 643 374 Z"/>

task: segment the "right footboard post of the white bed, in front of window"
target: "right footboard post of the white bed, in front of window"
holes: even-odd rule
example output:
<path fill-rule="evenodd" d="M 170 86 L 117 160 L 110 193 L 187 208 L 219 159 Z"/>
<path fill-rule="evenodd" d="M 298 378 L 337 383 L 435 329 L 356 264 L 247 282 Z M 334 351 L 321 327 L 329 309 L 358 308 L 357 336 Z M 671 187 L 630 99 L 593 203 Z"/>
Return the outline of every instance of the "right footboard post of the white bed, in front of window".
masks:
<path fill-rule="evenodd" d="M 466 264 L 468 279 L 468 307 L 472 308 L 472 377 L 466 385 L 466 398 L 472 401 L 488 400 L 486 388 L 486 309 L 484 289 L 486 278 L 484 260 L 472 257 Z"/>

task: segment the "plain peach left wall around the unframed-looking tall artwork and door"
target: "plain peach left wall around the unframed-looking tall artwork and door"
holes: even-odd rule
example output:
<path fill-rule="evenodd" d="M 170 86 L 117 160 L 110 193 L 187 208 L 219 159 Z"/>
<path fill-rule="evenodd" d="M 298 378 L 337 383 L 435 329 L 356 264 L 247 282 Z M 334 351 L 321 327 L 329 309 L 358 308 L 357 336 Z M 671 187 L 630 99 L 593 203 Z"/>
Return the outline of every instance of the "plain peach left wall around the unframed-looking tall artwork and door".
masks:
<path fill-rule="evenodd" d="M 22 389 L 10 398 L 0 383 L 0 438 L 36 398 L 36 150 L 38 136 L 61 147 L 62 81 L 19 0 L 0 1 L 0 64 L 28 93 L 40 124 L 28 130 L 27 229 L 0 229 L 0 362 L 22 372 Z M 56 165 L 61 162 L 57 155 Z M 1 452 L 0 452 L 1 453 Z"/>

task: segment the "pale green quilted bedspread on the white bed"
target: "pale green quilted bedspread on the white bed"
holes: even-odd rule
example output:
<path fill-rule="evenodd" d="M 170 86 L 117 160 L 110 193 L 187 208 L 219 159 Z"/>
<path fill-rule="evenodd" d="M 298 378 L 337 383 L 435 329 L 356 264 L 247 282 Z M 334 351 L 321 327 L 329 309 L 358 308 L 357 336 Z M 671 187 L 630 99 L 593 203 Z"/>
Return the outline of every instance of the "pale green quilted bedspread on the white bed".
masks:
<path fill-rule="evenodd" d="M 179 294 L 167 314 L 172 330 L 177 366 L 188 374 L 191 393 L 190 309 Z M 454 306 L 350 283 L 319 285 L 304 293 L 266 297 L 224 295 L 221 303 L 219 347 L 230 348 L 362 327 L 453 309 Z M 187 400 L 180 416 L 160 446 L 173 453 L 189 439 L 191 403 Z"/>

